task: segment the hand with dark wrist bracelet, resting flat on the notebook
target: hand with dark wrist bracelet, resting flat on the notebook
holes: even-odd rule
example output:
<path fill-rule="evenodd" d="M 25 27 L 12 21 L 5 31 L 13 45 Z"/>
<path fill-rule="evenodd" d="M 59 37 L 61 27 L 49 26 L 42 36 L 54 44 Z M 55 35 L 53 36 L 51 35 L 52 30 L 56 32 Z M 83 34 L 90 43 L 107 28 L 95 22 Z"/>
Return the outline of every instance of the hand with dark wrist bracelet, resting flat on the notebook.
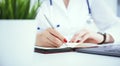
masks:
<path fill-rule="evenodd" d="M 104 36 L 102 34 L 91 32 L 87 29 L 83 29 L 80 32 L 76 33 L 70 42 L 72 43 L 94 43 L 94 44 L 100 44 L 104 41 Z M 106 43 L 112 43 L 114 42 L 111 35 L 106 34 Z"/>

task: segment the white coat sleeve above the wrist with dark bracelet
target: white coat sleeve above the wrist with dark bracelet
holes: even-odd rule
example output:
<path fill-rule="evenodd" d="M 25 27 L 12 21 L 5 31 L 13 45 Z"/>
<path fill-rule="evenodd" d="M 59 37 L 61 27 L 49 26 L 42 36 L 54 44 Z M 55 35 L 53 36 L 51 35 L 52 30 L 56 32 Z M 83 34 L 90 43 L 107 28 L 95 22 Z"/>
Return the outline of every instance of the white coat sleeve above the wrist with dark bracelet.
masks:
<path fill-rule="evenodd" d="M 120 20 L 103 0 L 90 0 L 92 17 L 100 31 L 106 32 L 120 43 Z"/>

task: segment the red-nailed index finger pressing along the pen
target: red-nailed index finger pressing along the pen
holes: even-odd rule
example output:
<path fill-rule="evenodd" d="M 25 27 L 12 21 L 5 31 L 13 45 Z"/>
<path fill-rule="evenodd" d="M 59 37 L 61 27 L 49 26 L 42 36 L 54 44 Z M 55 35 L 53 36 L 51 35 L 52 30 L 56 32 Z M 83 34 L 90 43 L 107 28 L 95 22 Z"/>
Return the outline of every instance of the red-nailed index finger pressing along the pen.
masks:
<path fill-rule="evenodd" d="M 58 39 L 60 39 L 62 42 L 67 42 L 67 40 L 65 39 L 65 37 L 63 35 L 61 35 L 57 30 L 49 28 L 48 31 L 55 37 L 57 37 Z"/>

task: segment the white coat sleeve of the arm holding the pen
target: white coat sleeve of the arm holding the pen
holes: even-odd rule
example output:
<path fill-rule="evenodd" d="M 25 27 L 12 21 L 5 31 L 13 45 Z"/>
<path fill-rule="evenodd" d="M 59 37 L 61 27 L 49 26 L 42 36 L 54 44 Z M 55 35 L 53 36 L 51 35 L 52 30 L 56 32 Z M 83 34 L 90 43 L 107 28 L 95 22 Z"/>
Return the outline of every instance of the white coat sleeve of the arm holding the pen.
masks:
<path fill-rule="evenodd" d="M 39 30 L 37 30 L 38 32 L 41 32 L 46 28 L 50 27 L 50 25 L 48 24 L 47 20 L 44 17 L 44 15 L 46 14 L 48 15 L 48 9 L 49 9 L 46 3 L 48 2 L 42 1 L 42 5 L 39 7 L 38 14 L 36 16 L 37 28 L 39 28 Z"/>

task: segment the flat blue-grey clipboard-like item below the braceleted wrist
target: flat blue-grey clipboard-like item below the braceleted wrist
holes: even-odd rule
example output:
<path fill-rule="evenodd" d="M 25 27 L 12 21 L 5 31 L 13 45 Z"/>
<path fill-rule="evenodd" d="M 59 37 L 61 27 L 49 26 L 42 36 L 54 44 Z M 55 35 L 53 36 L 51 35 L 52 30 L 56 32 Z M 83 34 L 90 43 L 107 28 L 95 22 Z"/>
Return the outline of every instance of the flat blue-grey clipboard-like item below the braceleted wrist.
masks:
<path fill-rule="evenodd" d="M 120 44 L 103 44 L 98 47 L 76 49 L 80 53 L 120 57 Z"/>

